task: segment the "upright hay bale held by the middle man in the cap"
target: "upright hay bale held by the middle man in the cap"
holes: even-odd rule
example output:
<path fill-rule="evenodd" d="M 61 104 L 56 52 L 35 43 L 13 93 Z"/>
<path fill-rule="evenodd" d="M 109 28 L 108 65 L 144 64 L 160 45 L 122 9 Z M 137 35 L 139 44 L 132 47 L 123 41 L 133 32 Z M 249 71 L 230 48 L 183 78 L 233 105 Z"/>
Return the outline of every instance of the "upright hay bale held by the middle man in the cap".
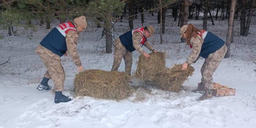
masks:
<path fill-rule="evenodd" d="M 133 77 L 138 79 L 145 79 L 154 81 L 156 79 L 155 74 L 165 68 L 165 53 L 158 52 L 150 53 L 150 58 L 145 58 L 140 55 L 139 61 L 137 62 L 137 69 Z"/>

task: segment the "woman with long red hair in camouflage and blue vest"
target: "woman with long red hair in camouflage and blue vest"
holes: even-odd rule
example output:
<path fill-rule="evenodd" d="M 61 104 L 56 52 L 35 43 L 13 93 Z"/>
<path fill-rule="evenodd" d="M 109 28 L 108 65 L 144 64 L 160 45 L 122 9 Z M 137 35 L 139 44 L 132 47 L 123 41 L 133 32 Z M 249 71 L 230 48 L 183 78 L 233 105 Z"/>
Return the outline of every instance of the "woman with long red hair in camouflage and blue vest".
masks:
<path fill-rule="evenodd" d="M 199 30 L 193 24 L 181 27 L 181 38 L 185 38 L 192 49 L 189 58 L 183 63 L 182 70 L 186 70 L 187 65 L 195 63 L 200 57 L 205 58 L 201 68 L 201 85 L 204 88 L 195 89 L 193 92 L 203 92 L 198 100 L 212 99 L 213 73 L 226 54 L 225 42 L 212 32 Z"/>

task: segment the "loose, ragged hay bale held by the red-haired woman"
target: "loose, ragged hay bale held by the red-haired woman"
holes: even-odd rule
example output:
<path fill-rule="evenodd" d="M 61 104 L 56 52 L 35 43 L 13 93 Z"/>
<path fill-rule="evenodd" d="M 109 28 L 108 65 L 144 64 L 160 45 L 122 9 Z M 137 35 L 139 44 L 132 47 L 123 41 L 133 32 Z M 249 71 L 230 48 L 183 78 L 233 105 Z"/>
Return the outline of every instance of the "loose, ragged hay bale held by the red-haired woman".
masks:
<path fill-rule="evenodd" d="M 163 90 L 172 92 L 179 92 L 183 86 L 182 84 L 187 80 L 189 76 L 192 76 L 194 68 L 187 66 L 187 70 L 181 70 L 182 65 L 174 65 L 172 68 L 165 68 L 156 74 L 154 82 Z"/>

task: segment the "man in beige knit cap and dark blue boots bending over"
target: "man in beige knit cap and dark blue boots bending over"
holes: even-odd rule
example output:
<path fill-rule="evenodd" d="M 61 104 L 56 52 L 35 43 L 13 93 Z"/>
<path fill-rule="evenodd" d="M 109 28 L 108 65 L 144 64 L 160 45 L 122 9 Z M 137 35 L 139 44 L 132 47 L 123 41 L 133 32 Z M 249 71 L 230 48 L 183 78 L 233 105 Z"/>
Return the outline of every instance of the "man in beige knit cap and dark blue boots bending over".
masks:
<path fill-rule="evenodd" d="M 86 26 L 85 16 L 75 18 L 73 22 L 59 24 L 43 38 L 35 50 L 47 68 L 43 80 L 38 85 L 37 89 L 50 90 L 51 87 L 47 83 L 49 79 L 52 79 L 55 90 L 55 103 L 72 100 L 72 97 L 67 97 L 62 94 L 66 76 L 61 65 L 60 57 L 63 55 L 67 56 L 67 53 L 69 53 L 77 66 L 78 72 L 83 70 L 76 46 L 78 34 L 82 32 Z"/>

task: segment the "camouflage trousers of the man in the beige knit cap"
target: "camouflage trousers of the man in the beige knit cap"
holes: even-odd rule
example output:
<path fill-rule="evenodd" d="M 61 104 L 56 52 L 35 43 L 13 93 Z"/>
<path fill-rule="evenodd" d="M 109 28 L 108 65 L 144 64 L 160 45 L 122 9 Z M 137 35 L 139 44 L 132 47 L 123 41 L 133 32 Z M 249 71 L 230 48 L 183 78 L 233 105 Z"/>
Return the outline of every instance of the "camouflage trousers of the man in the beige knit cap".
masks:
<path fill-rule="evenodd" d="M 63 91 L 66 75 L 61 65 L 61 58 L 41 44 L 38 45 L 35 52 L 39 55 L 47 68 L 44 77 L 53 80 L 55 91 Z"/>

